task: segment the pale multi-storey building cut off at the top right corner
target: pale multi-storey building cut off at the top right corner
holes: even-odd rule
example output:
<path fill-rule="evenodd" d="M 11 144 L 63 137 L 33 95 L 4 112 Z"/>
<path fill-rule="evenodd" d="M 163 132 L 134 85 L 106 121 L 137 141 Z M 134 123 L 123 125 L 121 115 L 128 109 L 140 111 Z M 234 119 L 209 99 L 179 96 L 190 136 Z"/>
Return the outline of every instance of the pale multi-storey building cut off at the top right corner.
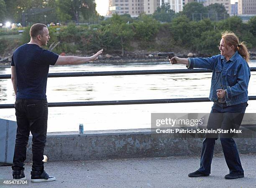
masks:
<path fill-rule="evenodd" d="M 238 15 L 256 14 L 256 0 L 238 0 Z"/>

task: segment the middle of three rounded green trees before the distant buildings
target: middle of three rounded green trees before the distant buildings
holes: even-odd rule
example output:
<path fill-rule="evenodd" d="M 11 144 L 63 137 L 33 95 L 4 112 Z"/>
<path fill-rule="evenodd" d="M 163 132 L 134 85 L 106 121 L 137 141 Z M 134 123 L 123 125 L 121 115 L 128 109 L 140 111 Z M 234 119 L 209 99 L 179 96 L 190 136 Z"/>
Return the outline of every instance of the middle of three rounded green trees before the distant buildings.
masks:
<path fill-rule="evenodd" d="M 195 20 L 200 14 L 208 13 L 207 8 L 202 3 L 191 2 L 184 5 L 182 14 L 190 20 Z"/>

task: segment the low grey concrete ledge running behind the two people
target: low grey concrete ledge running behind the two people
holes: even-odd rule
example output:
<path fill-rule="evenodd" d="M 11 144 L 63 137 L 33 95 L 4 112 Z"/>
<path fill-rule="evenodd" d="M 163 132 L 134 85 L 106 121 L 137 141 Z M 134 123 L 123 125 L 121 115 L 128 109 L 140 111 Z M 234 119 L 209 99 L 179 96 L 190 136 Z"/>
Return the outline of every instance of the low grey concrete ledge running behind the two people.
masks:
<path fill-rule="evenodd" d="M 50 161 L 200 155 L 202 138 L 188 134 L 157 134 L 151 129 L 48 133 L 44 154 Z M 256 135 L 235 138 L 240 153 L 256 153 Z M 32 137 L 27 162 L 32 159 Z M 215 152 L 222 151 L 216 141 Z"/>

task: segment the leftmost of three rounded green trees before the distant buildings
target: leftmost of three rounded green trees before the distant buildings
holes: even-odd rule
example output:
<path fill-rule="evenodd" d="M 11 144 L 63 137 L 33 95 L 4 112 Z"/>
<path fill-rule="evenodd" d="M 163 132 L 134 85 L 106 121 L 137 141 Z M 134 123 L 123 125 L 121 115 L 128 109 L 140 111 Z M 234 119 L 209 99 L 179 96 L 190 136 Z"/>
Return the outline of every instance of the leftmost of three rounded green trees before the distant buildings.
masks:
<path fill-rule="evenodd" d="M 171 22 L 174 17 L 175 12 L 171 9 L 169 3 L 161 5 L 161 7 L 158 7 L 153 13 L 153 18 L 160 22 Z"/>

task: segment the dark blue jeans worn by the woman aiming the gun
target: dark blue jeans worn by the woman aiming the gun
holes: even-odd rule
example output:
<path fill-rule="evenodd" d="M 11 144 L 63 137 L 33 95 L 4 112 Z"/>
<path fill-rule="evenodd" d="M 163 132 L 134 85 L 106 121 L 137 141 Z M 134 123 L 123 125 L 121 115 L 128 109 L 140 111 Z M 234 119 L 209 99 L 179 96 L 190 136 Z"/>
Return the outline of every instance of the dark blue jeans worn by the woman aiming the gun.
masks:
<path fill-rule="evenodd" d="M 241 103 L 227 106 L 226 104 L 215 102 L 208 119 L 207 129 L 238 129 L 243 120 L 243 114 L 245 113 L 247 105 L 247 103 Z M 229 168 L 229 173 L 243 173 L 236 143 L 232 138 L 233 135 L 234 134 L 220 134 L 220 142 Z M 200 168 L 198 169 L 202 173 L 210 174 L 214 145 L 217 139 L 218 135 L 216 137 L 216 135 L 212 136 L 206 134 L 206 138 L 203 140 Z"/>

